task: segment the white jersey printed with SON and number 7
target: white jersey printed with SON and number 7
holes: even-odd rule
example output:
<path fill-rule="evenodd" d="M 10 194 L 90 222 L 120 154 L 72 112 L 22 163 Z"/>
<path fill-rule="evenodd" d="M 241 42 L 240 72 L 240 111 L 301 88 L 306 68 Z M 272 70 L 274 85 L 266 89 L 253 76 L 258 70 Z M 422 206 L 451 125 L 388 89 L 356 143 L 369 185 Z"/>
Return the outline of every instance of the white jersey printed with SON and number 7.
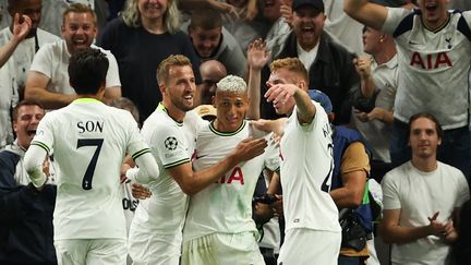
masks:
<path fill-rule="evenodd" d="M 150 152 L 129 111 L 76 99 L 43 118 L 32 145 L 53 148 L 59 167 L 55 240 L 126 238 L 121 164 Z"/>

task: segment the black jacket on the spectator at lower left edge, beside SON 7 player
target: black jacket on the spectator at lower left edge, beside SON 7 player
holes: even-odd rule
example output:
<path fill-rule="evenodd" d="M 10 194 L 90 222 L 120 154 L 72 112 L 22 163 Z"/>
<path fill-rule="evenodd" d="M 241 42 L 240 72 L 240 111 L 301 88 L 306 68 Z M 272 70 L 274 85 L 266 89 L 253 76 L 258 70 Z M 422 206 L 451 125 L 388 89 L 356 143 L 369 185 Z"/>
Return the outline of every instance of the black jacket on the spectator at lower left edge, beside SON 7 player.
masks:
<path fill-rule="evenodd" d="M 14 178 L 21 155 L 0 153 L 0 264 L 57 264 L 52 213 L 56 185 L 41 192 Z M 21 166 L 21 165 L 20 165 Z"/>

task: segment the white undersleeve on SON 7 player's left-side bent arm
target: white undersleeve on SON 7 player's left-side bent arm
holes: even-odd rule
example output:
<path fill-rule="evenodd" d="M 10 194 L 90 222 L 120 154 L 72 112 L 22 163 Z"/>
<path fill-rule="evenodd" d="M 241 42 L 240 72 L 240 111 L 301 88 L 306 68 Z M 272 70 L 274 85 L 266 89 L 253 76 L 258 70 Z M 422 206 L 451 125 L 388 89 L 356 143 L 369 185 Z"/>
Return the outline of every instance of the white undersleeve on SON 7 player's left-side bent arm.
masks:
<path fill-rule="evenodd" d="M 45 161 L 47 152 L 39 145 L 32 144 L 24 157 L 24 167 L 28 173 L 33 185 L 36 188 L 43 186 L 47 181 L 47 176 L 43 172 L 43 162 Z"/>

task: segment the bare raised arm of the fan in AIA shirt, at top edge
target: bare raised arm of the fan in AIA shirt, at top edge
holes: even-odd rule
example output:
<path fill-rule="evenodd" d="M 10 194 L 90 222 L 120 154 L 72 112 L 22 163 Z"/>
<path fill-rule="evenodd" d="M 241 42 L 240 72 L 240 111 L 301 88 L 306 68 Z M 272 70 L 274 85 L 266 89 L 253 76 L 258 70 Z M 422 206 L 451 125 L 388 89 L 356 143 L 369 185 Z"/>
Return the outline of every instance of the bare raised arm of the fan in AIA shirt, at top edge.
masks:
<path fill-rule="evenodd" d="M 388 10 L 369 0 L 345 0 L 343 11 L 365 26 L 381 29 L 386 21 Z"/>

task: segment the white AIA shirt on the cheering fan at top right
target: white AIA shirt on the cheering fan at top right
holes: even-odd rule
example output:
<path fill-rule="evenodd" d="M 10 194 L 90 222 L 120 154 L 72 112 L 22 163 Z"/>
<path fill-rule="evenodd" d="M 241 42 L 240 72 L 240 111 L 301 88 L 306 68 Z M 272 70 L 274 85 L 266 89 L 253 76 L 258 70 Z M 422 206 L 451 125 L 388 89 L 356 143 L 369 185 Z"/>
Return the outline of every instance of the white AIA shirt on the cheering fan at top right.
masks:
<path fill-rule="evenodd" d="M 399 81 L 395 118 L 408 122 L 412 115 L 430 112 L 446 130 L 468 124 L 471 41 L 458 28 L 463 16 L 471 27 L 471 11 L 449 13 L 436 32 L 427 29 L 421 15 L 407 9 L 388 8 L 382 31 L 395 36 Z M 410 23 L 406 23 L 409 19 Z M 404 19 L 406 17 L 406 19 Z M 403 22 L 403 24 L 401 24 Z"/>

